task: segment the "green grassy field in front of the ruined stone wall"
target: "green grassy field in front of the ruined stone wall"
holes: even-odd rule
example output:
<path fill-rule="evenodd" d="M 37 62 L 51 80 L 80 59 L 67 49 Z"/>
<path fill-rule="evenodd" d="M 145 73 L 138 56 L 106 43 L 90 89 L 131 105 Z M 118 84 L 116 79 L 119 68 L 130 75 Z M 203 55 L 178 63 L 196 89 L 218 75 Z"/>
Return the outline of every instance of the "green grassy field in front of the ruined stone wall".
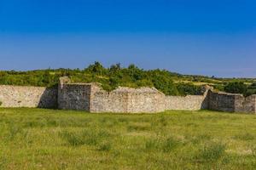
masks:
<path fill-rule="evenodd" d="M 0 109 L 0 169 L 255 169 L 256 116 Z"/>

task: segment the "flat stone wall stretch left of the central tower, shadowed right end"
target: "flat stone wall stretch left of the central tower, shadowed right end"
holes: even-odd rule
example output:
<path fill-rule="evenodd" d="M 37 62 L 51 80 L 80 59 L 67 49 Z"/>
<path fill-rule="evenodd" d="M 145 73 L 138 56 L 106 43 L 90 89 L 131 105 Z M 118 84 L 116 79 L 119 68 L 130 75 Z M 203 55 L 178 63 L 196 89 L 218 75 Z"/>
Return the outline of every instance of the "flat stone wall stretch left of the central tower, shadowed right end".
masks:
<path fill-rule="evenodd" d="M 0 85 L 0 107 L 57 106 L 57 88 Z"/>

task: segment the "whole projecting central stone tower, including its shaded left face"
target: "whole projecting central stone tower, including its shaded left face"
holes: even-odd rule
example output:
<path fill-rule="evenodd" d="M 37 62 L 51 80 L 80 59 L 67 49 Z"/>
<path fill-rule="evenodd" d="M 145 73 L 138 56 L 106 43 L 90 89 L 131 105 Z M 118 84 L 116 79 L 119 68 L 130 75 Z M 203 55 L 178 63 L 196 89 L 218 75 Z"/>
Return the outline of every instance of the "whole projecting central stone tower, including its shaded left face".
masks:
<path fill-rule="evenodd" d="M 72 83 L 61 77 L 59 109 L 90 112 L 141 113 L 165 111 L 165 94 L 155 88 L 117 88 L 112 92 L 98 83 Z"/>

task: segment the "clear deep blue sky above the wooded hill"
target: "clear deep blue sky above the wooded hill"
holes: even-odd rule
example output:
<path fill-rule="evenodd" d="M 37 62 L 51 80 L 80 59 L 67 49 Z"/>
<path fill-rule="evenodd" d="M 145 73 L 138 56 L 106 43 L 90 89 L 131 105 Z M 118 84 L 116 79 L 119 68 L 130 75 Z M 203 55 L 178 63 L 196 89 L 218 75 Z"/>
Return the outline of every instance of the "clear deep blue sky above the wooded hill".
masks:
<path fill-rule="evenodd" d="M 256 77 L 256 1 L 0 0 L 0 70 L 95 60 Z"/>

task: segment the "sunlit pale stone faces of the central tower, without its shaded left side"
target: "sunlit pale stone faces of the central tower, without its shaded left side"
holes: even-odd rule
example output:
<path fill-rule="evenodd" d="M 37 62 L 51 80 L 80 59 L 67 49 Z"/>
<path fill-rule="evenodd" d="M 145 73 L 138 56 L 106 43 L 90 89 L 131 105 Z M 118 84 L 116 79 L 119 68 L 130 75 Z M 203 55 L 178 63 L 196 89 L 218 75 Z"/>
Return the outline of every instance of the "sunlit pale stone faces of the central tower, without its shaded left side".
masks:
<path fill-rule="evenodd" d="M 99 90 L 91 96 L 91 112 L 154 113 L 165 111 L 165 95 L 154 88 Z"/>

